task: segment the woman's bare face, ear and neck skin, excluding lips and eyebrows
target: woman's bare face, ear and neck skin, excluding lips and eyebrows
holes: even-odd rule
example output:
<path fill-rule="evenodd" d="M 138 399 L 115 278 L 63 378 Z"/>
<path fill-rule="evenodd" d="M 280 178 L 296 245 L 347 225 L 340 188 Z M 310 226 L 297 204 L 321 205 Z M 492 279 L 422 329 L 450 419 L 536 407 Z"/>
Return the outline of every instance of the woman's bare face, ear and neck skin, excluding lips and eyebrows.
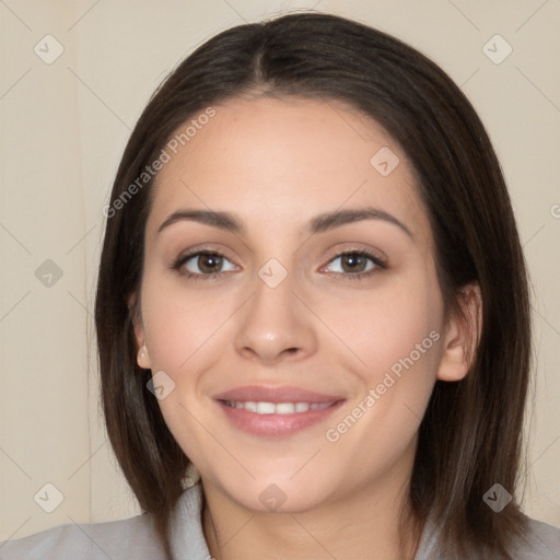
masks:
<path fill-rule="evenodd" d="M 214 108 L 158 176 L 136 319 L 139 365 L 175 383 L 159 402 L 201 474 L 210 552 L 219 560 L 413 558 L 418 542 L 402 553 L 397 522 L 418 428 L 436 378 L 467 373 L 476 332 L 468 322 L 445 322 L 412 170 L 378 124 L 339 102 L 245 97 Z M 387 176 L 370 163 L 382 147 L 399 158 Z M 411 235 L 381 219 L 304 231 L 316 214 L 365 206 Z M 234 212 L 246 232 L 182 220 L 158 233 L 186 208 Z M 189 279 L 172 268 L 200 245 L 224 255 L 223 276 Z M 387 268 L 351 278 L 357 269 L 337 258 L 351 249 L 373 252 Z M 276 288 L 258 276 L 271 258 L 288 272 Z M 207 260 L 188 262 L 208 275 Z M 358 271 L 371 269 L 366 262 Z M 327 441 L 327 429 L 431 331 L 439 340 L 338 441 Z M 212 398 L 249 384 L 296 385 L 346 401 L 298 434 L 258 438 L 231 425 Z M 285 497 L 273 512 L 259 500 L 271 483 Z"/>

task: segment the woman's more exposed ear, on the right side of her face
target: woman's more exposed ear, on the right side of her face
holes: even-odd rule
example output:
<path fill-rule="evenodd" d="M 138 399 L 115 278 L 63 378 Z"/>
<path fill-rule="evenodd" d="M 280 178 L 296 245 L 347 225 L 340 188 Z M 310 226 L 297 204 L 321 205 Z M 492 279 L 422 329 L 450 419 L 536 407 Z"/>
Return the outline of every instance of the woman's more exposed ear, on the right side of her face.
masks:
<path fill-rule="evenodd" d="M 441 381 L 460 381 L 467 375 L 480 340 L 482 295 L 478 283 L 466 285 L 458 303 L 462 313 L 448 318 L 443 337 L 436 376 Z"/>

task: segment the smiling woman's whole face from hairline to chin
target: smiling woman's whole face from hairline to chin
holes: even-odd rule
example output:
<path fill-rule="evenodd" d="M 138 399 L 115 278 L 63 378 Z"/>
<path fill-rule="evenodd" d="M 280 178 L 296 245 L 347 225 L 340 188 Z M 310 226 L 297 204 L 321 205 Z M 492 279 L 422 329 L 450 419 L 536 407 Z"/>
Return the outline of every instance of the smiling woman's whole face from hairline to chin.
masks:
<path fill-rule="evenodd" d="M 253 510 L 406 480 L 451 373 L 405 154 L 334 101 L 214 109 L 167 144 L 145 230 L 139 364 L 170 430 L 205 483 Z"/>

